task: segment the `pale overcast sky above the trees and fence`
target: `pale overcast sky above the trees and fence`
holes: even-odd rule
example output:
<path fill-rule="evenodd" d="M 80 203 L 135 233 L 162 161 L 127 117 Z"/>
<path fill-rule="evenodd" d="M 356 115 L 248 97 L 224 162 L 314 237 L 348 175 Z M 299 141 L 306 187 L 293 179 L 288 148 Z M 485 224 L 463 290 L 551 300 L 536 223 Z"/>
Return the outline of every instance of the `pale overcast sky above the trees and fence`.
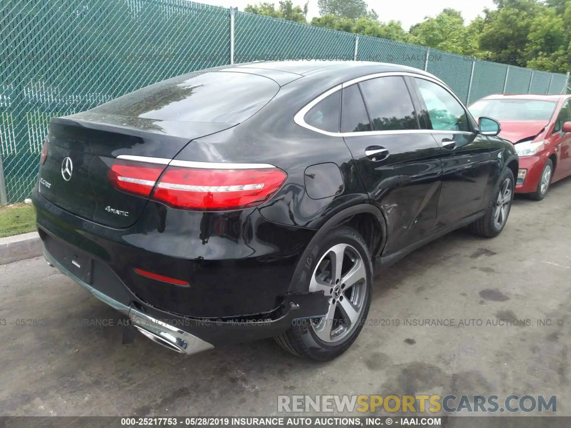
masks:
<path fill-rule="evenodd" d="M 259 3 L 252 0 L 196 0 L 200 3 L 207 3 L 208 5 L 224 6 L 224 7 L 238 7 L 239 10 L 244 10 L 244 7 L 249 3 Z M 303 7 L 307 0 L 293 0 L 293 5 L 300 5 Z M 274 3 L 278 6 L 279 0 L 268 0 L 269 3 Z M 476 18 L 478 14 L 484 16 L 482 11 L 484 7 L 494 9 L 492 0 L 369 0 L 367 1 L 369 9 L 375 9 L 379 14 L 379 21 L 400 21 L 403 23 L 403 28 L 408 30 L 409 27 L 417 22 L 423 21 L 425 16 L 435 16 L 445 7 L 452 7 L 452 9 L 460 10 L 464 21 L 469 23 L 472 19 Z M 308 21 L 311 18 L 319 17 L 319 8 L 317 7 L 317 0 L 309 0 L 309 13 L 307 15 Z"/>

